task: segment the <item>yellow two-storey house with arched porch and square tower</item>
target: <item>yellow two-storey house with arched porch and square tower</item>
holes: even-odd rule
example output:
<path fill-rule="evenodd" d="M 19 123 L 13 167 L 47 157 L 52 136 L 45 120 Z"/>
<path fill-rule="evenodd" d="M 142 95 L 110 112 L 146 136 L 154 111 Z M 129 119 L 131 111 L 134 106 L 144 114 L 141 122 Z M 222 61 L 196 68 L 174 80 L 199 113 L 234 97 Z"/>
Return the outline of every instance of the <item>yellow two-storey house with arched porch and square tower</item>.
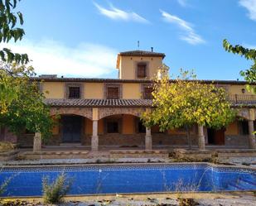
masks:
<path fill-rule="evenodd" d="M 132 50 L 120 52 L 117 58 L 118 79 L 64 78 L 41 75 L 41 91 L 51 105 L 56 127 L 46 145 L 80 144 L 99 150 L 101 147 L 184 146 L 187 144 L 183 128 L 159 132 L 158 127 L 145 128 L 140 115 L 152 108 L 152 77 L 167 72 L 162 68 L 165 54 Z M 212 83 L 205 80 L 205 84 Z M 239 116 L 221 130 L 204 128 L 205 144 L 216 146 L 254 147 L 256 95 L 245 89 L 246 82 L 216 80 L 224 87 Z M 46 92 L 47 91 L 47 92 Z M 198 127 L 193 127 L 192 142 L 197 144 Z M 1 131 L 2 140 L 17 141 L 20 146 L 32 146 L 34 134 L 14 137 Z M 250 138 L 249 138 L 250 137 Z M 40 141 L 39 141 L 40 144 Z"/>

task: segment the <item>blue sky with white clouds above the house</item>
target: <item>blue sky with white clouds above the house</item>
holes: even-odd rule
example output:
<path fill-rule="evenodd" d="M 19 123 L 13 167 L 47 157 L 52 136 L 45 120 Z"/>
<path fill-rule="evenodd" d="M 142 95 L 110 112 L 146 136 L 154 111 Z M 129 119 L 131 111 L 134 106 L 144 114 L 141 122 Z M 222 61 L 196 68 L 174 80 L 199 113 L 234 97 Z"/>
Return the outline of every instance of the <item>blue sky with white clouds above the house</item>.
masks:
<path fill-rule="evenodd" d="M 26 36 L 10 43 L 37 74 L 117 78 L 126 50 L 166 54 L 170 74 L 194 69 L 198 79 L 242 80 L 252 62 L 222 41 L 256 48 L 256 0 L 22 0 Z M 6 45 L 2 45 L 6 46 Z"/>

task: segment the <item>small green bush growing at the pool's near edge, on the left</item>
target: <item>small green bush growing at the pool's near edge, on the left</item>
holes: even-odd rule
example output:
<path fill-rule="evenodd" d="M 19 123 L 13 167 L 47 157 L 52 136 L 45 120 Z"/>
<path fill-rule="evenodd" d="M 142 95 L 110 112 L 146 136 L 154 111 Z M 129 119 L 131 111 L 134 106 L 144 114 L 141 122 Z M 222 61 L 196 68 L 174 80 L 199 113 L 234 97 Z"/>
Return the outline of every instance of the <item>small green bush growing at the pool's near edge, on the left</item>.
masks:
<path fill-rule="evenodd" d="M 43 200 L 46 204 L 58 204 L 63 201 L 63 197 L 70 191 L 72 180 L 68 180 L 65 173 L 61 173 L 55 181 L 49 183 L 49 177 L 42 180 Z"/>

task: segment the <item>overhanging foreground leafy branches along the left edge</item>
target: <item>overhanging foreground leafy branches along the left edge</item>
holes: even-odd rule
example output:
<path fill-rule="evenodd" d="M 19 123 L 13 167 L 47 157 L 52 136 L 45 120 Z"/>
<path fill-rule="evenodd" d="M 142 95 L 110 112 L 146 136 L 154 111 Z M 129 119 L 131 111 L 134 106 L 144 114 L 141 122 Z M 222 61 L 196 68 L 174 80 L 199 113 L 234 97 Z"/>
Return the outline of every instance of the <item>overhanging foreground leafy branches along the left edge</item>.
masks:
<path fill-rule="evenodd" d="M 20 0 L 18 0 L 20 1 Z M 23 24 L 21 12 L 12 12 L 17 6 L 17 0 L 0 0 L 0 43 L 8 43 L 9 41 L 21 41 L 25 32 L 22 28 L 17 27 L 17 24 Z M 12 53 L 10 49 L 0 49 L 1 68 L 3 63 L 16 62 L 17 64 L 27 64 L 27 54 Z M 12 100 L 17 98 L 17 88 L 12 87 L 7 76 L 0 71 L 0 113 L 7 112 L 7 106 L 12 103 Z"/>

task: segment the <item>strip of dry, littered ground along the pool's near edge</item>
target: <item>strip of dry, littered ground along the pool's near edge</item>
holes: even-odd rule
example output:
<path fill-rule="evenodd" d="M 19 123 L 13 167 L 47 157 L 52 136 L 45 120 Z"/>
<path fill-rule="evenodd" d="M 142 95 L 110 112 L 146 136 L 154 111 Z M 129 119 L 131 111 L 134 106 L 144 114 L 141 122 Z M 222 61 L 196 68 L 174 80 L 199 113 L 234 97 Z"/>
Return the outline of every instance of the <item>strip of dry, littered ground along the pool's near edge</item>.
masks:
<path fill-rule="evenodd" d="M 13 202 L 14 201 L 14 202 Z M 46 205 L 42 199 L 2 199 L 2 205 Z M 182 202 L 182 204 L 181 204 Z M 146 205 L 204 205 L 204 206 L 236 206 L 256 205 L 255 192 L 233 193 L 191 193 L 191 194 L 116 194 L 100 196 L 67 197 L 62 206 L 146 206 Z"/>

